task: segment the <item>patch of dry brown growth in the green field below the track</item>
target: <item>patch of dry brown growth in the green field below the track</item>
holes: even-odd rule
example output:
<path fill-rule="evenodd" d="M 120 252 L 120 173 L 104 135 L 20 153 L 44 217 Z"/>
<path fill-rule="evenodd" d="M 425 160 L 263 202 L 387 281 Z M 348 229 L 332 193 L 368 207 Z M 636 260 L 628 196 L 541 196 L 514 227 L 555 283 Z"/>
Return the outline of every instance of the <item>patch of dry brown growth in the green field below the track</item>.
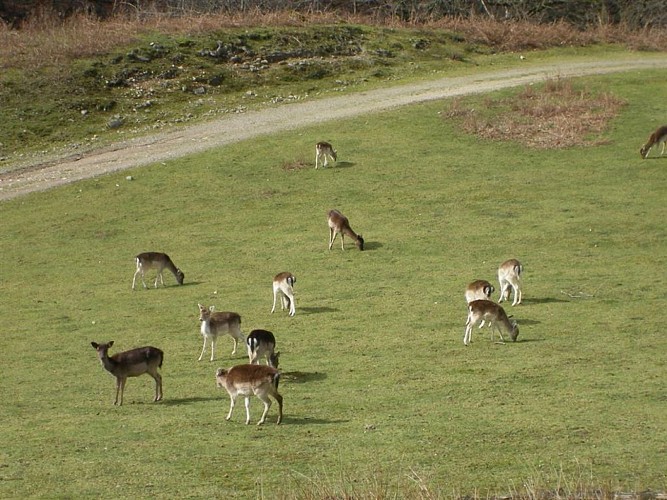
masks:
<path fill-rule="evenodd" d="M 610 93 L 594 94 L 570 80 L 549 80 L 543 88 L 526 86 L 505 99 L 486 99 L 483 111 L 453 101 L 445 118 L 489 140 L 516 141 L 536 149 L 557 149 L 604 143 L 601 135 L 624 101 Z"/>

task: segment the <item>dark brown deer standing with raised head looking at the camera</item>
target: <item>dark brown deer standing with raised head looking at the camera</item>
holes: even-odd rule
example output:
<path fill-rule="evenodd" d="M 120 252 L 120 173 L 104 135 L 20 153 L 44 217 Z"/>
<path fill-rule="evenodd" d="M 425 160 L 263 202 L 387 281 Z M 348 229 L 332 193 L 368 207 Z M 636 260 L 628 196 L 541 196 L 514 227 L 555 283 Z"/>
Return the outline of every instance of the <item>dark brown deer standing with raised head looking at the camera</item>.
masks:
<path fill-rule="evenodd" d="M 162 368 L 164 353 L 157 347 L 137 347 L 129 351 L 119 352 L 109 357 L 109 348 L 113 340 L 106 344 L 91 342 L 90 345 L 97 351 L 97 356 L 106 371 L 116 377 L 116 400 L 114 405 L 123 404 L 123 392 L 128 377 L 138 377 L 148 373 L 155 380 L 155 399 L 162 399 L 162 376 L 158 368 Z M 119 399 L 120 398 L 120 399 Z"/>

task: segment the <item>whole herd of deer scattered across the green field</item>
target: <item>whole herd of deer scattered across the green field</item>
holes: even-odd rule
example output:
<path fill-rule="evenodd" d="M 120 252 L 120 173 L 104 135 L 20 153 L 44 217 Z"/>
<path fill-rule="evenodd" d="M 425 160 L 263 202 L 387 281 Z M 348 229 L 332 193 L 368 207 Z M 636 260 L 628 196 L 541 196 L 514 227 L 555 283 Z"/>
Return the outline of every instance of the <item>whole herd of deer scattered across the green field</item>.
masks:
<path fill-rule="evenodd" d="M 653 146 L 662 143 L 662 156 L 667 144 L 667 125 L 659 127 L 653 132 L 646 144 L 640 149 L 642 158 L 647 158 Z M 315 146 L 315 168 L 319 167 L 320 160 L 323 160 L 323 166 L 328 166 L 327 159 L 337 161 L 336 150 L 328 142 L 318 142 Z M 351 238 L 359 250 L 364 249 L 364 239 L 360 234 L 355 233 L 350 227 L 350 222 L 338 210 L 330 210 L 327 214 L 329 226 L 329 250 L 333 247 L 336 236 L 340 234 L 341 248 L 345 249 L 345 236 Z M 163 271 L 170 271 L 179 285 L 183 284 L 185 275 L 167 254 L 160 252 L 145 252 L 136 256 L 136 271 L 132 279 L 132 289 L 136 289 L 137 276 L 141 277 L 144 288 L 147 288 L 145 281 L 145 272 L 155 270 L 155 288 L 158 287 L 158 281 L 164 286 Z M 475 280 L 470 283 L 465 290 L 465 298 L 468 303 L 468 317 L 465 324 L 465 334 L 463 343 L 467 346 L 472 342 L 472 331 L 477 325 L 479 328 L 488 323 L 491 330 L 491 339 L 497 330 L 500 341 L 504 342 L 503 332 L 509 334 L 512 341 L 516 341 L 519 336 L 519 327 L 514 320 L 510 320 L 503 307 L 500 305 L 503 301 L 509 301 L 513 295 L 512 306 L 521 304 L 521 274 L 523 266 L 516 259 L 510 259 L 503 262 L 498 268 L 498 283 L 500 285 L 500 297 L 498 303 L 491 300 L 491 295 L 495 291 L 493 285 L 486 280 Z M 271 312 L 276 309 L 276 301 L 280 300 L 281 310 L 287 309 L 290 316 L 296 314 L 296 304 L 294 300 L 294 284 L 296 277 L 289 272 L 282 272 L 273 278 L 273 307 Z M 219 368 L 216 372 L 216 384 L 218 387 L 224 387 L 230 397 L 229 413 L 226 417 L 229 420 L 232 417 L 234 405 L 239 395 L 245 398 L 246 424 L 250 422 L 250 396 L 257 396 L 264 403 L 264 412 L 257 425 L 264 423 L 266 415 L 271 407 L 271 398 L 278 402 L 278 420 L 279 424 L 283 416 L 283 397 L 278 393 L 278 384 L 280 381 L 280 372 L 278 371 L 278 360 L 280 353 L 275 352 L 276 339 L 273 333 L 268 330 L 252 330 L 248 337 L 241 332 L 241 316 L 234 312 L 216 312 L 214 307 L 199 306 L 199 321 L 201 322 L 201 333 L 204 338 L 204 345 L 198 360 L 201 361 L 206 352 L 206 344 L 210 342 L 211 361 L 215 356 L 215 345 L 219 335 L 228 334 L 234 340 L 232 355 L 236 354 L 238 342 L 245 342 L 248 352 L 248 364 L 233 366 L 230 369 Z M 129 351 L 116 353 L 109 356 L 109 348 L 113 346 L 113 341 L 98 344 L 91 342 L 93 348 L 97 351 L 100 362 L 105 370 L 116 377 L 116 399 L 114 405 L 123 404 L 123 392 L 128 377 L 137 377 L 148 374 L 155 380 L 155 398 L 154 401 L 162 399 L 162 376 L 158 369 L 162 367 L 164 353 L 151 346 L 139 347 Z M 266 359 L 266 365 L 260 365 L 260 358 Z"/>

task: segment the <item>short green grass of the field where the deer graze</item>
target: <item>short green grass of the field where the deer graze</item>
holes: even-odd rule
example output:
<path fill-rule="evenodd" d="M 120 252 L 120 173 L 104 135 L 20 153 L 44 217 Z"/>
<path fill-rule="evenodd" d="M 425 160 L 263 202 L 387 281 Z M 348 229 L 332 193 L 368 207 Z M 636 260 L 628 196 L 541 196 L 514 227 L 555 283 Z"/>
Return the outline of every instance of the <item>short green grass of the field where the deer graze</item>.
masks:
<path fill-rule="evenodd" d="M 664 491 L 667 160 L 638 150 L 665 76 L 586 80 L 628 103 L 597 147 L 480 141 L 434 102 L 0 204 L 0 497 Z M 336 168 L 283 168 L 321 139 Z M 327 250 L 333 207 L 367 251 Z M 147 250 L 185 285 L 132 292 Z M 510 257 L 518 342 L 464 347 L 465 285 Z M 285 270 L 294 318 L 269 314 Z M 284 425 L 224 421 L 215 369 L 246 358 L 196 361 L 197 303 L 275 333 Z M 141 377 L 114 407 L 93 340 L 162 348 L 165 400 Z"/>

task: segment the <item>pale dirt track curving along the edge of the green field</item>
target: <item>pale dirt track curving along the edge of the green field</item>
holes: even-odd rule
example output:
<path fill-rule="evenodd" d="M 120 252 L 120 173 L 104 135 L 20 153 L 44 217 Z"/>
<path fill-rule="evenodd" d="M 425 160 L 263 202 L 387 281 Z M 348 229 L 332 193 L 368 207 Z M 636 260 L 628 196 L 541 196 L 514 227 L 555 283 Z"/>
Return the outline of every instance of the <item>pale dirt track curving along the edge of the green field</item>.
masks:
<path fill-rule="evenodd" d="M 33 191 L 43 191 L 109 172 L 178 158 L 263 134 L 350 118 L 406 104 L 489 92 L 556 76 L 574 77 L 648 68 L 667 68 L 667 56 L 660 54 L 635 60 L 564 62 L 535 67 L 526 66 L 509 71 L 441 78 L 357 94 L 284 104 L 262 111 L 227 116 L 175 131 L 132 139 L 85 153 L 80 157 L 64 158 L 48 164 L 1 174 L 0 200 L 8 200 Z"/>

